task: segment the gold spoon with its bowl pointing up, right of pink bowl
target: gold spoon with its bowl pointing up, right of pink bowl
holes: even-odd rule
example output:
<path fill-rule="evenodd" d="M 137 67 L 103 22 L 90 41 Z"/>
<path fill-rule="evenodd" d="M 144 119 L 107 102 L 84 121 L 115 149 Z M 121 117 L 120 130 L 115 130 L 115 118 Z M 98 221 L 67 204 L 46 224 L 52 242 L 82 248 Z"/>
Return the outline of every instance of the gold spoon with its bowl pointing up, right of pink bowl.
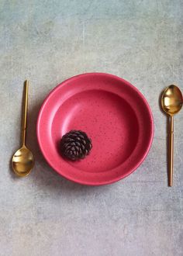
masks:
<path fill-rule="evenodd" d="M 173 184 L 173 162 L 174 162 L 174 114 L 181 110 L 183 99 L 180 89 L 175 85 L 170 85 L 164 89 L 161 97 L 161 106 L 164 112 L 170 116 L 170 161 L 168 185 Z"/>

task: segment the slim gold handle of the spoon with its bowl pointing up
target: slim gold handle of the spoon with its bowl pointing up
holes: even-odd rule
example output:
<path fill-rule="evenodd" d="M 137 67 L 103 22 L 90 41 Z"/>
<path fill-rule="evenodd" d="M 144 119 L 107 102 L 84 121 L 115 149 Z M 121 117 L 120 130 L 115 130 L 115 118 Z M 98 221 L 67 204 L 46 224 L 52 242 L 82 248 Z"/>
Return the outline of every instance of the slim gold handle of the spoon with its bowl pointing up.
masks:
<path fill-rule="evenodd" d="M 171 116 L 170 123 L 170 161 L 169 161 L 169 182 L 168 185 L 171 187 L 173 185 L 173 164 L 174 164 L 174 116 Z"/>

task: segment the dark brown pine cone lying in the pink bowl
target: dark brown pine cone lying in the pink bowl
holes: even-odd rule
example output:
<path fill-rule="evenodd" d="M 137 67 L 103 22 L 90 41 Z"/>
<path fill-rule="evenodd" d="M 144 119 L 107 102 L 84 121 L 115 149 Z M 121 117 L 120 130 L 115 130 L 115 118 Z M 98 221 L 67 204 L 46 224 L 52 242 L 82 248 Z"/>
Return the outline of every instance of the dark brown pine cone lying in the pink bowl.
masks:
<path fill-rule="evenodd" d="M 88 155 L 91 147 L 91 139 L 81 130 L 71 130 L 60 140 L 61 154 L 73 161 Z"/>

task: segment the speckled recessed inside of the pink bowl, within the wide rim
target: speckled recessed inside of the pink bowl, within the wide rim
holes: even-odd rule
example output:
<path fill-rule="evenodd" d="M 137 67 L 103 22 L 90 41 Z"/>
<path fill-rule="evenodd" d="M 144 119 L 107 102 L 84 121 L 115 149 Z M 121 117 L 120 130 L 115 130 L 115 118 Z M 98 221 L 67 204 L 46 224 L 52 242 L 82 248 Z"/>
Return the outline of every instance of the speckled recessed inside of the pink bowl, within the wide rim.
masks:
<path fill-rule="evenodd" d="M 71 96 L 55 112 L 51 137 L 58 154 L 60 138 L 70 130 L 85 131 L 91 138 L 88 157 L 68 161 L 86 172 L 109 171 L 123 164 L 139 137 L 138 121 L 129 103 L 112 92 L 98 90 Z"/>

